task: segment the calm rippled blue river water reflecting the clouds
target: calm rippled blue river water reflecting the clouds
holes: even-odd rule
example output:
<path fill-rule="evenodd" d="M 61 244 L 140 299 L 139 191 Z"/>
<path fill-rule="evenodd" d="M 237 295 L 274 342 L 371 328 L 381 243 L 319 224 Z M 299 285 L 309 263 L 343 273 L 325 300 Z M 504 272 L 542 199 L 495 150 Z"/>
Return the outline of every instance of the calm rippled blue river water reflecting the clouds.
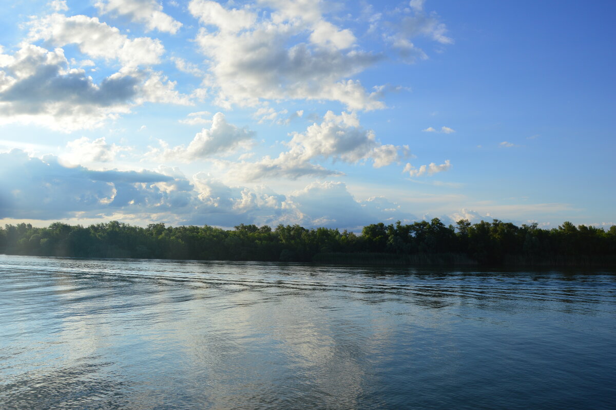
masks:
<path fill-rule="evenodd" d="M 610 273 L 0 255 L 2 409 L 608 409 Z"/>

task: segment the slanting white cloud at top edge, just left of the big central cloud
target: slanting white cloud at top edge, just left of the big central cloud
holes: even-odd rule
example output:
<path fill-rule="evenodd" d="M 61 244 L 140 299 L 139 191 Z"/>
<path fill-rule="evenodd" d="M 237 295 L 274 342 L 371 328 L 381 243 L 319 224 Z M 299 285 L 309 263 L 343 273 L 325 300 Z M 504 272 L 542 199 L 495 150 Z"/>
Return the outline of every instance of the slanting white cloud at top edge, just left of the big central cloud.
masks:
<path fill-rule="evenodd" d="M 122 15 L 145 24 L 147 30 L 175 34 L 182 23 L 163 13 L 163 6 L 156 0 L 100 0 L 94 6 L 101 14 Z"/>

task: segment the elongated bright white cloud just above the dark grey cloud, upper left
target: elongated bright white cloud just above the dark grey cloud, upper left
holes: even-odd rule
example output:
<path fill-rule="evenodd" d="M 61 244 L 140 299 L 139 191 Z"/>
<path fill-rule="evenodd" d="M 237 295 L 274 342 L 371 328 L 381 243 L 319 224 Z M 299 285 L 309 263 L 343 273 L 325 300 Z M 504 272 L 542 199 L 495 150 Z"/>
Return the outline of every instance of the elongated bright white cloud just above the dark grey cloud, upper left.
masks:
<path fill-rule="evenodd" d="M 52 14 L 32 20 L 29 25 L 31 42 L 43 39 L 59 47 L 76 44 L 79 51 L 94 59 L 118 60 L 124 67 L 158 64 L 164 52 L 158 39 L 129 39 L 96 17 Z"/>

